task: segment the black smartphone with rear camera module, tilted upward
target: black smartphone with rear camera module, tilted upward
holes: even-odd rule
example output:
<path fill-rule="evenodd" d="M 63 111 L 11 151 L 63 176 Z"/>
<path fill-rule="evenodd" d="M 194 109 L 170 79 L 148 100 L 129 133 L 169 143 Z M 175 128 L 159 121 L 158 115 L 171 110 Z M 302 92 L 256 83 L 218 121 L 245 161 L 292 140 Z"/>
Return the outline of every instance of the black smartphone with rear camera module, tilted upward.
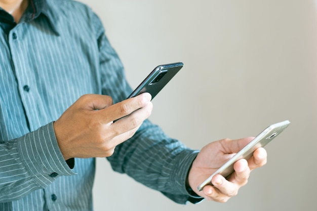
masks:
<path fill-rule="evenodd" d="M 128 98 L 133 98 L 142 93 L 149 93 L 153 98 L 159 93 L 165 85 L 176 75 L 183 67 L 182 62 L 171 64 L 162 64 L 157 67 L 140 83 L 140 85 L 131 93 Z M 127 98 L 127 99 L 128 99 Z"/>

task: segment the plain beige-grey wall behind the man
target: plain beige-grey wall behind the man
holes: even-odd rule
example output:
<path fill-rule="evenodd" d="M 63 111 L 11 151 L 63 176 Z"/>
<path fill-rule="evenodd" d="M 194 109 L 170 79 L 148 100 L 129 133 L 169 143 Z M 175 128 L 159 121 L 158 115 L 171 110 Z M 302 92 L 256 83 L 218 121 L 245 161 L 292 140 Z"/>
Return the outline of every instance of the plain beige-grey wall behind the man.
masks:
<path fill-rule="evenodd" d="M 131 86 L 157 65 L 184 68 L 153 100 L 150 119 L 200 149 L 290 120 L 267 164 L 226 203 L 179 205 L 97 159 L 96 211 L 317 210 L 317 3 L 309 0 L 86 0 Z"/>

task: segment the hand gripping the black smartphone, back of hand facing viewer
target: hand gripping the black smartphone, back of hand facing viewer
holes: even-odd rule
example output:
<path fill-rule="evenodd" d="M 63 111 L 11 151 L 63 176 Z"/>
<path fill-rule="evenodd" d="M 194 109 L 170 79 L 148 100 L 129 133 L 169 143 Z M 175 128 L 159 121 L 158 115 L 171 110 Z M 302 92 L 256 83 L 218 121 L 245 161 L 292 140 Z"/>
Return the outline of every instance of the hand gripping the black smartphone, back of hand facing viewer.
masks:
<path fill-rule="evenodd" d="M 105 95 L 79 98 L 54 122 L 64 159 L 112 155 L 114 148 L 131 138 L 151 114 L 150 101 L 148 93 L 116 104 Z"/>

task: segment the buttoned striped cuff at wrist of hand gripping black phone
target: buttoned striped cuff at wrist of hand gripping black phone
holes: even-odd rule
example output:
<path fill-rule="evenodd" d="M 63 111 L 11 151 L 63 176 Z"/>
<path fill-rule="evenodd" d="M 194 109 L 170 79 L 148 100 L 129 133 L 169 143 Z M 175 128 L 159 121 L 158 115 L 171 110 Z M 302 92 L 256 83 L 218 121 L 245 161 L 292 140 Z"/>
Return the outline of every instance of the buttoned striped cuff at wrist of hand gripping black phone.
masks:
<path fill-rule="evenodd" d="M 19 138 L 17 144 L 21 161 L 41 187 L 60 176 L 75 175 L 58 147 L 53 122 Z"/>

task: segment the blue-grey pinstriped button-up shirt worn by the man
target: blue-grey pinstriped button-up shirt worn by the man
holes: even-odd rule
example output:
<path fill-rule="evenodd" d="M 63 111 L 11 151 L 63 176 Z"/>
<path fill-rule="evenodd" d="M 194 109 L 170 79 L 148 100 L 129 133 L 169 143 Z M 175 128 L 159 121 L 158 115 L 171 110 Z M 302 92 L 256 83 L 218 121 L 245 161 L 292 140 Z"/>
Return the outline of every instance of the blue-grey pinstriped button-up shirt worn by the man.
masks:
<path fill-rule="evenodd" d="M 0 210 L 93 210 L 95 158 L 65 162 L 53 121 L 84 94 L 113 102 L 131 92 L 99 18 L 82 3 L 29 1 L 16 24 L 0 8 Z M 116 147 L 114 171 L 177 203 L 197 151 L 146 120 Z"/>

